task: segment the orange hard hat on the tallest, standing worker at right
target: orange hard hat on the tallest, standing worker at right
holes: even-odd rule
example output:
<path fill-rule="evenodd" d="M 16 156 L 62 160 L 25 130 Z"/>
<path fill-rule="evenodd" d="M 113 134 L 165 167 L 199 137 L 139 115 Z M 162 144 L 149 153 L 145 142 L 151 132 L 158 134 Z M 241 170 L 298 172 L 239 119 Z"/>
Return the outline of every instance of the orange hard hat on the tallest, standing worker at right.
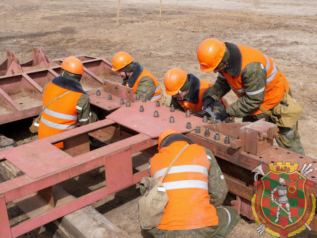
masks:
<path fill-rule="evenodd" d="M 214 38 L 209 38 L 200 43 L 197 50 L 197 58 L 200 63 L 200 69 L 204 72 L 211 72 L 217 68 L 221 62 L 226 45 L 224 42 Z"/>

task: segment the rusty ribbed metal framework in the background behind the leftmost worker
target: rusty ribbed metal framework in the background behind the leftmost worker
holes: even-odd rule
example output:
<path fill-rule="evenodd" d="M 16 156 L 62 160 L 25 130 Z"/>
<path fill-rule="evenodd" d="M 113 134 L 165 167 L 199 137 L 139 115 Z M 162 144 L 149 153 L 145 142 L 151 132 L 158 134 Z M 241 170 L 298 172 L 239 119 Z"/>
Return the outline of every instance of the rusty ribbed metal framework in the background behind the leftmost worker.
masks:
<path fill-rule="evenodd" d="M 112 65 L 108 60 L 87 55 L 76 57 L 84 65 L 81 79 L 84 90 L 95 91 L 101 88 L 104 79 L 122 82 L 122 79 L 111 71 Z M 63 59 L 50 60 L 41 49 L 36 48 L 33 48 L 31 60 L 22 64 L 14 52 L 7 53 L 6 59 L 0 64 L 0 124 L 36 116 L 41 112 L 42 88 L 60 74 L 62 61 Z M 116 87 L 120 92 L 118 95 L 122 94 L 133 101 L 133 89 L 111 83 L 109 90 L 115 90 Z M 128 92 L 130 95 L 126 96 Z M 110 107 L 117 108 L 111 105 Z"/>

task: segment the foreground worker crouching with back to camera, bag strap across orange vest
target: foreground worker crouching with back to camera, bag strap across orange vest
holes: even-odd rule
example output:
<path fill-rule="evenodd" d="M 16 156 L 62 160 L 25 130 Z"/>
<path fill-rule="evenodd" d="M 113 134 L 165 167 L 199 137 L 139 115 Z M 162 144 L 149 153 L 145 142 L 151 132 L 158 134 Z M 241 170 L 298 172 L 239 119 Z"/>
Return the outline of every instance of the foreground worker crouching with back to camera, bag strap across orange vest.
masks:
<path fill-rule="evenodd" d="M 176 130 L 159 136 L 159 153 L 149 161 L 149 174 L 158 180 L 175 156 L 178 157 L 163 180 L 168 203 L 154 237 L 226 236 L 240 221 L 237 210 L 220 207 L 228 192 L 223 174 L 209 149 L 195 144 Z M 146 190 L 140 184 L 141 194 Z"/>

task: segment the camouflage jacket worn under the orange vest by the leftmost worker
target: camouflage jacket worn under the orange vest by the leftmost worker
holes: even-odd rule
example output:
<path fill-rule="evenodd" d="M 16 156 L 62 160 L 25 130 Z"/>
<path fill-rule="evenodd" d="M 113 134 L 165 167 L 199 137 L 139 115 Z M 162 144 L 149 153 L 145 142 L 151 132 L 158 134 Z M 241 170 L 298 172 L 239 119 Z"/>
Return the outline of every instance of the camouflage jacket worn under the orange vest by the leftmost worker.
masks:
<path fill-rule="evenodd" d="M 63 78 L 66 78 L 66 77 L 63 77 Z M 73 82 L 69 81 L 69 80 L 72 80 L 72 79 L 67 78 L 67 80 L 65 80 L 65 82 L 69 82 L 67 85 L 57 85 L 57 84 L 56 85 L 59 87 L 62 87 L 62 88 L 67 88 L 69 90 L 72 90 L 73 89 L 72 88 Z M 45 89 L 47 84 L 45 84 L 43 89 L 42 89 L 42 95 L 44 93 L 44 89 Z M 85 92 L 85 91 L 83 91 L 82 88 L 81 88 L 81 90 L 83 93 Z M 72 91 L 75 91 L 75 90 L 72 90 Z M 89 96 L 86 93 L 81 95 L 80 98 L 78 99 L 77 104 L 76 104 L 76 111 L 78 114 L 78 125 L 79 126 L 84 126 L 84 125 L 87 125 L 89 123 L 93 123 L 97 120 L 97 115 L 94 111 L 94 107 L 90 106 Z"/>

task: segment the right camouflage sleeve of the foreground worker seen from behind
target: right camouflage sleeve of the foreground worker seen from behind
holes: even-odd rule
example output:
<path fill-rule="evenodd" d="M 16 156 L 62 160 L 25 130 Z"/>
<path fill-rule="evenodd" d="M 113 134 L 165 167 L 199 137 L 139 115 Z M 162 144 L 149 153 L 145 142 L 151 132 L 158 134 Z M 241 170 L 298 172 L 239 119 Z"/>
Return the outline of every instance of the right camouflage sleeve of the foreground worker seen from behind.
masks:
<path fill-rule="evenodd" d="M 220 206 L 227 196 L 228 188 L 215 156 L 209 149 L 206 149 L 206 155 L 210 163 L 208 171 L 208 193 L 210 204 L 214 207 Z"/>

